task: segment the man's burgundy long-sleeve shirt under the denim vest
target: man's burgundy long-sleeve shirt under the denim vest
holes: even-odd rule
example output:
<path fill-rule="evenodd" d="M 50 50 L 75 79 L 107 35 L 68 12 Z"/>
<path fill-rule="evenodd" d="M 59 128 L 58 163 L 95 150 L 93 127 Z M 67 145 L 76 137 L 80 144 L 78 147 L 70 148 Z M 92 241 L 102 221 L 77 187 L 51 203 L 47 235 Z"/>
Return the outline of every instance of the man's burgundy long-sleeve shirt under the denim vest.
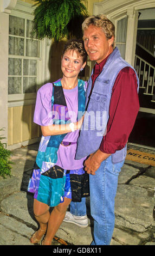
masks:
<path fill-rule="evenodd" d="M 99 64 L 95 64 L 92 88 L 107 58 L 108 56 Z M 126 67 L 119 72 L 112 89 L 107 132 L 100 144 L 103 153 L 113 154 L 125 147 L 138 111 L 137 77 L 132 68 Z"/>

